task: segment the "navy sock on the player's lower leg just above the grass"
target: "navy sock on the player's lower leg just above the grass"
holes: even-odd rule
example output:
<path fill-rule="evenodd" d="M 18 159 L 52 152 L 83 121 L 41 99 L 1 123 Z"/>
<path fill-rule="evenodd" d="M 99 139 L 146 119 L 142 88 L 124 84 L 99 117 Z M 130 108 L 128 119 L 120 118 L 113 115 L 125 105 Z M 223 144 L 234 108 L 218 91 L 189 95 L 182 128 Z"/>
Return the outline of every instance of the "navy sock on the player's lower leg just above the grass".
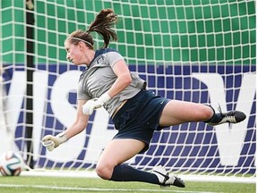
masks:
<path fill-rule="evenodd" d="M 110 180 L 142 181 L 153 184 L 159 184 L 159 179 L 154 173 L 143 172 L 125 164 L 116 165 Z"/>

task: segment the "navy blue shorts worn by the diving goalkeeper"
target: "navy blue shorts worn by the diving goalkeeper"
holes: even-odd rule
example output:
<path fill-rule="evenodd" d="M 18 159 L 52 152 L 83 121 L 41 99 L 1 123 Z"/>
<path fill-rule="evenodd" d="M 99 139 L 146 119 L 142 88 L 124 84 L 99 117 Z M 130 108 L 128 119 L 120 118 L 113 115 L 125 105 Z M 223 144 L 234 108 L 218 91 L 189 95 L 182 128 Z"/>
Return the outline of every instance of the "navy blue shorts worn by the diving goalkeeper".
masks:
<path fill-rule="evenodd" d="M 113 118 L 118 130 L 114 138 L 141 140 L 146 144 L 142 152 L 146 151 L 154 130 L 163 129 L 159 126 L 159 117 L 168 101 L 168 98 L 156 96 L 150 90 L 141 90 L 127 100 Z"/>

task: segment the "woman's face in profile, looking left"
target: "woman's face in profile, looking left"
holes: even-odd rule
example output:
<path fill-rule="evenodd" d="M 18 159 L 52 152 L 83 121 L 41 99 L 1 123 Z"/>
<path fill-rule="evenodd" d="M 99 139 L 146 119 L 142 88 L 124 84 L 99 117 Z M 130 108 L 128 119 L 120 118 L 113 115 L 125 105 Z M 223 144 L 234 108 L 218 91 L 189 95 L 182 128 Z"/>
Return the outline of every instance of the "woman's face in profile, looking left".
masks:
<path fill-rule="evenodd" d="M 78 45 L 73 45 L 70 41 L 64 42 L 64 47 L 66 50 L 66 59 L 72 62 L 74 65 L 88 64 L 87 56 L 84 43 L 79 42 Z"/>

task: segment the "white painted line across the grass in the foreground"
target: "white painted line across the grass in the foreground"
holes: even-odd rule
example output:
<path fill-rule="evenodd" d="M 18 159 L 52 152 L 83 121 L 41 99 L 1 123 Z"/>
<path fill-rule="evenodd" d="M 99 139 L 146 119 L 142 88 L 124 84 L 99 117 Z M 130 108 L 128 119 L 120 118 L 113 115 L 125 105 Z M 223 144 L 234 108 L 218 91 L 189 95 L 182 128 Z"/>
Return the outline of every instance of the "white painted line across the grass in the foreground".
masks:
<path fill-rule="evenodd" d="M 211 191 L 185 191 L 175 189 L 98 189 L 98 188 L 79 188 L 79 187 L 58 187 L 58 186 L 43 186 L 43 185 L 17 185 L 17 184 L 0 184 L 2 188 L 34 188 L 34 189 L 62 189 L 62 190 L 84 190 L 84 191 L 117 191 L 117 192 L 184 192 L 184 193 L 215 193 Z M 216 192 L 218 193 L 218 192 Z"/>

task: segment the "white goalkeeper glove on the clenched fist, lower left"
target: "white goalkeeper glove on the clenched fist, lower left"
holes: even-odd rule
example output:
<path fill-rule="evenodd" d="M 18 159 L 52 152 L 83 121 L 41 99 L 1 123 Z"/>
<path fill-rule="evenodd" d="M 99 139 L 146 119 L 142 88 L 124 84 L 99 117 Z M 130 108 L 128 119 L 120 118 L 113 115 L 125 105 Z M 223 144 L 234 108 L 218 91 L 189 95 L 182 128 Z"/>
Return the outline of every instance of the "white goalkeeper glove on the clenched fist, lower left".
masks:
<path fill-rule="evenodd" d="M 48 151 L 52 151 L 54 148 L 58 147 L 60 144 L 67 141 L 68 138 L 64 135 L 64 133 L 59 133 L 56 136 L 47 135 L 42 138 L 42 144 L 44 147 L 47 147 Z"/>

